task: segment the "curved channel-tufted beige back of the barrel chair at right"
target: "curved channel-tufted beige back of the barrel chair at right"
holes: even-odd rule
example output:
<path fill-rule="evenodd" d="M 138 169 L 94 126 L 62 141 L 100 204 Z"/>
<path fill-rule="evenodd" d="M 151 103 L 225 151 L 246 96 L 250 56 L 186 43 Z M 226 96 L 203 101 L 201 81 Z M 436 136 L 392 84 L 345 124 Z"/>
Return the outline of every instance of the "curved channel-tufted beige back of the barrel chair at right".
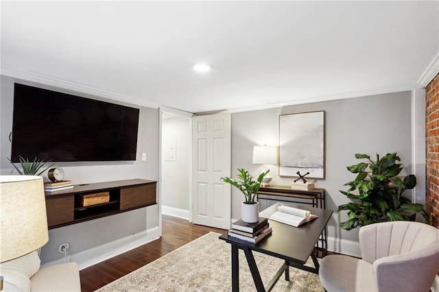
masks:
<path fill-rule="evenodd" d="M 363 260 L 373 264 L 376 291 L 428 292 L 439 270 L 439 230 L 393 221 L 360 229 Z"/>

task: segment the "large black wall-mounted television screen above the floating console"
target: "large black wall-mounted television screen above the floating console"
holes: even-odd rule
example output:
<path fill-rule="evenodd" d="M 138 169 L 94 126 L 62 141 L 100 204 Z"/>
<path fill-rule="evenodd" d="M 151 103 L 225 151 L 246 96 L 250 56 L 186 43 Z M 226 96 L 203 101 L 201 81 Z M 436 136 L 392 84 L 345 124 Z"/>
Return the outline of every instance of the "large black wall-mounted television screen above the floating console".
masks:
<path fill-rule="evenodd" d="M 14 84 L 11 160 L 136 160 L 138 125 L 138 108 Z"/>

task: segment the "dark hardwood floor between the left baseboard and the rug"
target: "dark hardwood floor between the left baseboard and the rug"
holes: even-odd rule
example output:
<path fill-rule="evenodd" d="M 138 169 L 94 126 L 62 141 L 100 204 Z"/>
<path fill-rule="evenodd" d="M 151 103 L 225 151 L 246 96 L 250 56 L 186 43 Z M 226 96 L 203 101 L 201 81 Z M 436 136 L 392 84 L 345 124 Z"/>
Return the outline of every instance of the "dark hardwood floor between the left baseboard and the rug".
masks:
<path fill-rule="evenodd" d="M 210 231 L 222 233 L 225 230 L 200 226 L 189 223 L 185 219 L 163 215 L 160 239 L 80 271 L 82 291 L 95 291 Z"/>

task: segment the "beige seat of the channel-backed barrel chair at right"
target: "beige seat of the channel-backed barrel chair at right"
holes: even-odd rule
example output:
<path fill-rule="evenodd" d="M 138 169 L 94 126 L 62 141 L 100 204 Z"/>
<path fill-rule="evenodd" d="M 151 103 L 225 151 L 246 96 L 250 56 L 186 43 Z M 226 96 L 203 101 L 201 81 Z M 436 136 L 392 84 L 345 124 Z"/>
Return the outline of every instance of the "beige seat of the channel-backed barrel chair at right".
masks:
<path fill-rule="evenodd" d="M 352 256 L 325 256 L 320 263 L 319 278 L 329 292 L 375 291 L 372 264 Z"/>

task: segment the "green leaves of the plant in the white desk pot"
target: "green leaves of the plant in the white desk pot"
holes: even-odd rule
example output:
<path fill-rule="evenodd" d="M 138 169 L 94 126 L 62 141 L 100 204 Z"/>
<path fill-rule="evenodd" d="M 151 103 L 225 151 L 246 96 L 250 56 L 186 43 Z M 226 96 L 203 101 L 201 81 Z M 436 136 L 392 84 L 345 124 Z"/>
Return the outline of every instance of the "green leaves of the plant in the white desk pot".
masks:
<path fill-rule="evenodd" d="M 238 178 L 239 181 L 233 180 L 233 178 L 221 178 L 223 182 L 227 182 L 228 184 L 231 184 L 233 186 L 236 186 L 239 191 L 241 191 L 244 194 L 244 197 L 246 197 L 245 204 L 255 204 L 254 197 L 256 196 L 257 192 L 259 191 L 259 188 L 261 187 L 262 179 L 267 173 L 270 172 L 270 169 L 268 171 L 265 171 L 261 174 L 259 174 L 257 180 L 254 180 L 253 175 L 251 175 L 246 169 L 238 169 Z"/>

